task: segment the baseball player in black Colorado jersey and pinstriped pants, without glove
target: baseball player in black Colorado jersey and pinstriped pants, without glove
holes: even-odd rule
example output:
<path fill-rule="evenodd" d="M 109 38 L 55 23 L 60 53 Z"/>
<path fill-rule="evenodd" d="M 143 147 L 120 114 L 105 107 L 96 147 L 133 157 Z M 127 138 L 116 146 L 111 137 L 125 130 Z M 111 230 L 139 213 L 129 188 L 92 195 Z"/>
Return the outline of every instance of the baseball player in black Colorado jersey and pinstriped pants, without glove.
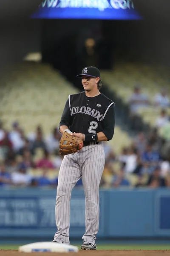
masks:
<path fill-rule="evenodd" d="M 71 190 L 82 178 L 85 192 L 85 234 L 82 250 L 96 250 L 99 229 L 99 184 L 105 164 L 103 141 L 113 138 L 114 102 L 100 93 L 100 72 L 85 67 L 80 75 L 84 91 L 68 96 L 59 123 L 59 131 L 83 141 L 83 148 L 64 156 L 59 170 L 56 225 L 53 242 L 69 244 Z"/>

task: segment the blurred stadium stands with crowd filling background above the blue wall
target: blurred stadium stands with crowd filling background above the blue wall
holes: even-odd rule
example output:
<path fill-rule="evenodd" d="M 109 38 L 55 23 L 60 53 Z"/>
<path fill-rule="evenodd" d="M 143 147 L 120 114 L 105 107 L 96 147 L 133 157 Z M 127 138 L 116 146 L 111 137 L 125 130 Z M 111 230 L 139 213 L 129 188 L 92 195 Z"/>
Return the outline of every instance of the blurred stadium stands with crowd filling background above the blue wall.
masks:
<path fill-rule="evenodd" d="M 145 20 L 28 19 L 40 2 L 1 16 L 0 186 L 57 187 L 62 110 L 94 65 L 116 113 L 100 186 L 170 187 L 169 14 L 134 1 Z"/>

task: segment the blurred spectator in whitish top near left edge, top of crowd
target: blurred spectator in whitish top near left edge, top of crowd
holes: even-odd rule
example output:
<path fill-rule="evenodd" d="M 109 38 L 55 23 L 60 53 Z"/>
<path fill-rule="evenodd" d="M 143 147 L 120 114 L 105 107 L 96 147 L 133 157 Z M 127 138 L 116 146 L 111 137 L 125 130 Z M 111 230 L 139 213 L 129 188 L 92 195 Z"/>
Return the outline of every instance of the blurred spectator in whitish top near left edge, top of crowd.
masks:
<path fill-rule="evenodd" d="M 18 122 L 12 124 L 13 130 L 9 132 L 9 139 L 12 142 L 14 151 L 18 151 L 24 145 L 24 133 Z"/>

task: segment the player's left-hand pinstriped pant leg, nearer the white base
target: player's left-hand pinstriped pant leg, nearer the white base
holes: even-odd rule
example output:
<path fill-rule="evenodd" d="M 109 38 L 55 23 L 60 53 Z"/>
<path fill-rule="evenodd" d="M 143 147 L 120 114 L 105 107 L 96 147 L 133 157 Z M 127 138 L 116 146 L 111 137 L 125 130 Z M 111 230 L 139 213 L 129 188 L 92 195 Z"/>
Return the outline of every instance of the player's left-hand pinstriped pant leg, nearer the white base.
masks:
<path fill-rule="evenodd" d="M 76 155 L 65 156 L 59 170 L 59 180 L 56 198 L 56 225 L 57 233 L 54 240 L 69 244 L 69 219 L 71 190 L 79 180 L 81 174 L 79 166 L 74 160 Z"/>

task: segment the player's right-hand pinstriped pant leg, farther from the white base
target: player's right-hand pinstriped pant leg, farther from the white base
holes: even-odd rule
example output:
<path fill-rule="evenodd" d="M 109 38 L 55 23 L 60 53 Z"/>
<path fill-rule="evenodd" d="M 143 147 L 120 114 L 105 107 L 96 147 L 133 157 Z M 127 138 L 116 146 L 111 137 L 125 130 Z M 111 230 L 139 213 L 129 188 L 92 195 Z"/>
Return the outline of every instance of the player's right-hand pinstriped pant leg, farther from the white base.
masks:
<path fill-rule="evenodd" d="M 86 229 L 82 239 L 94 244 L 99 229 L 99 183 L 105 159 L 102 144 L 88 147 L 89 160 L 88 163 L 85 161 L 84 166 L 82 166 L 82 180 L 86 199 Z"/>

